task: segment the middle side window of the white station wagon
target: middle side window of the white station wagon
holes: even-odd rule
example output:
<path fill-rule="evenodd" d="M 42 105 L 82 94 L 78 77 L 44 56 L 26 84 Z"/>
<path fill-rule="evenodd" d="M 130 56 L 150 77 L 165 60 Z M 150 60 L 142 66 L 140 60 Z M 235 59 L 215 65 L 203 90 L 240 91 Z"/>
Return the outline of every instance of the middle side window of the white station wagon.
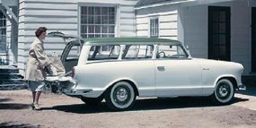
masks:
<path fill-rule="evenodd" d="M 126 45 L 122 59 L 151 59 L 153 50 L 153 45 Z"/>

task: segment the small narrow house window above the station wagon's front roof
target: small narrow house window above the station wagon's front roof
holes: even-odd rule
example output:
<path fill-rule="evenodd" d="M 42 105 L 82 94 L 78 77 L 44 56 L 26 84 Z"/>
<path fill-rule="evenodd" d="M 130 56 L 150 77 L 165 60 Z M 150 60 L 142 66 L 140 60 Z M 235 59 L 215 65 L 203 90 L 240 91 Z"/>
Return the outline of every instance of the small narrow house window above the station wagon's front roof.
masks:
<path fill-rule="evenodd" d="M 159 35 L 158 18 L 150 19 L 150 38 L 158 38 Z"/>

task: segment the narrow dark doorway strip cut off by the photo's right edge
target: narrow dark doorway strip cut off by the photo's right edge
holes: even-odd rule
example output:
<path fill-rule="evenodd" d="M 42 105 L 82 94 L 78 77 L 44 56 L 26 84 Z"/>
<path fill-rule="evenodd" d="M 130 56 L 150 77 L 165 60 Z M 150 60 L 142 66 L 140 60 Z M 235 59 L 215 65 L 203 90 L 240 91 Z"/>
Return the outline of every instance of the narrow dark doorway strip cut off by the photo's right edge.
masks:
<path fill-rule="evenodd" d="M 252 72 L 256 73 L 256 7 L 252 7 Z"/>

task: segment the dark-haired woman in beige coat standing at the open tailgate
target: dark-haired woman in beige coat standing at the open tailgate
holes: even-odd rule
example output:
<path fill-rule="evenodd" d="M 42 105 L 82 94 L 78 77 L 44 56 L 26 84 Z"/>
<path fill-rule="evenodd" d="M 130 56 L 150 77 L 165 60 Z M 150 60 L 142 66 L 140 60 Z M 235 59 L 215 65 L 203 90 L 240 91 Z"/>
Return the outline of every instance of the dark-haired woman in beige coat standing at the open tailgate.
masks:
<path fill-rule="evenodd" d="M 43 48 L 43 40 L 46 37 L 47 28 L 40 27 L 35 31 L 36 38 L 29 50 L 29 60 L 26 66 L 25 79 L 29 81 L 29 88 L 32 91 L 32 109 L 40 110 L 39 99 L 44 88 L 46 77 L 46 67 L 50 65 L 49 57 Z"/>

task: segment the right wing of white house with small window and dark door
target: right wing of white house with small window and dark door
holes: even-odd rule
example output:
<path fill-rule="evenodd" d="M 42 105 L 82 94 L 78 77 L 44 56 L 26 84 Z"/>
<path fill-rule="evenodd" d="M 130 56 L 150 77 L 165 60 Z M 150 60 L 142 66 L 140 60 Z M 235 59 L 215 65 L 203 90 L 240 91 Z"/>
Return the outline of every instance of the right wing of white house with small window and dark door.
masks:
<path fill-rule="evenodd" d="M 255 0 L 140 0 L 135 10 L 137 36 L 178 39 L 193 57 L 256 72 Z"/>

